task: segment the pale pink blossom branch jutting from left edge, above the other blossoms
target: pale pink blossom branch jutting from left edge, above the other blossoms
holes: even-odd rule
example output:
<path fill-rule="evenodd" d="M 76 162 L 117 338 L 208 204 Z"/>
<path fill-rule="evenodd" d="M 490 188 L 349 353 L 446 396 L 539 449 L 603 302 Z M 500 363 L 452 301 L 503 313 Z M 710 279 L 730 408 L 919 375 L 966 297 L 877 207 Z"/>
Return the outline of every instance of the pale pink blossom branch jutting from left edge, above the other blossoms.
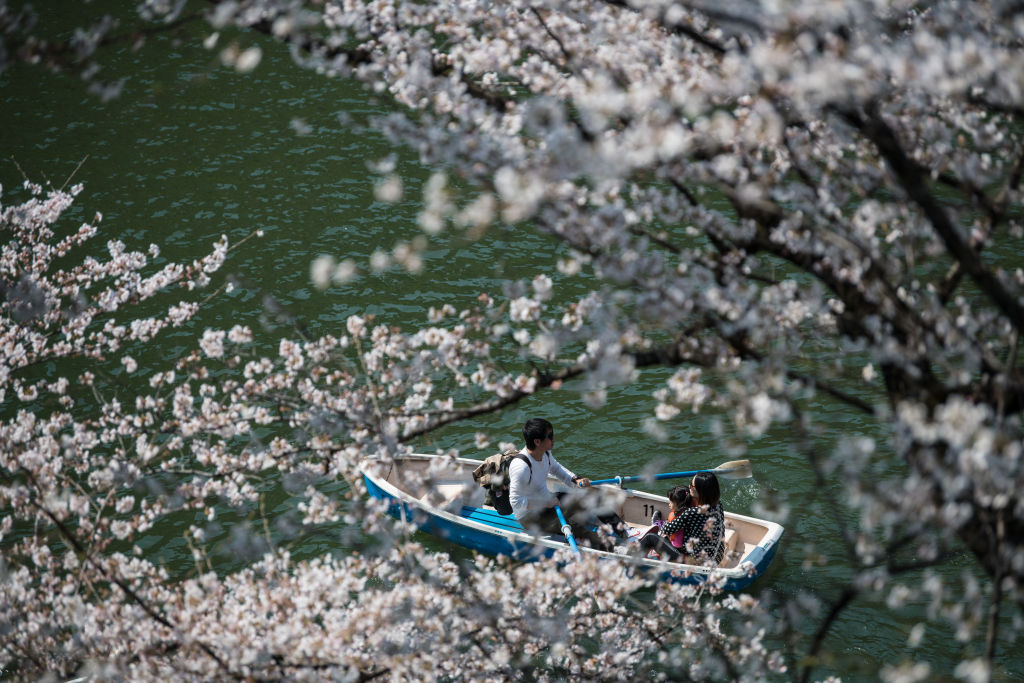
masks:
<path fill-rule="evenodd" d="M 10 391 L 23 402 L 42 393 L 59 395 L 68 405 L 68 379 L 28 382 L 18 371 L 55 358 L 79 356 L 103 359 L 131 342 L 152 340 L 167 327 L 180 327 L 196 312 L 196 304 L 179 302 L 158 317 L 119 321 L 115 315 L 125 305 L 153 298 L 171 286 L 193 290 L 205 287 L 210 274 L 220 268 L 227 251 L 227 238 L 214 251 L 190 264 L 169 263 L 152 275 L 140 271 L 148 259 L 142 252 L 128 252 L 123 243 L 108 243 L 110 258 L 92 257 L 69 270 L 49 272 L 55 259 L 66 257 L 96 234 L 96 226 L 83 224 L 58 238 L 53 224 L 67 210 L 81 185 L 70 191 L 27 183 L 36 197 L 28 202 L 0 205 L 0 222 L 8 242 L 0 252 L 0 283 L 5 298 L 5 325 L 0 332 L 0 400 Z M 95 222 L 101 216 L 96 215 Z M 150 256 L 159 249 L 151 246 Z M 127 359 L 129 368 L 134 361 Z"/>

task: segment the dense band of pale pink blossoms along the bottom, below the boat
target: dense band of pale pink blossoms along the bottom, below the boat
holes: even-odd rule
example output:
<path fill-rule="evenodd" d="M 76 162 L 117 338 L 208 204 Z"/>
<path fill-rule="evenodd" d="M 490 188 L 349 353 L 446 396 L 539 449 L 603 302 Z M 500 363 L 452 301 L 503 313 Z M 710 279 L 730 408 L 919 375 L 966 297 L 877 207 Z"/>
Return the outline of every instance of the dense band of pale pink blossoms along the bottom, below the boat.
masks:
<path fill-rule="evenodd" d="M 729 638 L 706 620 L 710 597 L 693 588 L 666 585 L 646 608 L 622 609 L 638 584 L 592 560 L 566 569 L 480 561 L 467 579 L 445 556 L 408 544 L 378 559 L 266 555 L 225 578 L 204 572 L 174 583 L 141 559 L 115 554 L 101 569 L 78 567 L 102 598 L 89 599 L 75 573 L 38 559 L 52 581 L 38 585 L 23 567 L 2 595 L 11 610 L 45 605 L 48 621 L 12 635 L 34 651 L 52 647 L 53 671 L 85 676 L 476 680 L 535 671 L 616 680 L 651 652 L 662 650 L 671 664 L 684 648 L 695 652 L 688 666 L 705 675 L 762 659 L 783 666 L 760 639 Z M 128 584 L 135 599 L 104 574 Z M 752 628 L 764 617 L 749 600 L 722 607 Z M 63 629 L 77 637 L 61 652 Z"/>

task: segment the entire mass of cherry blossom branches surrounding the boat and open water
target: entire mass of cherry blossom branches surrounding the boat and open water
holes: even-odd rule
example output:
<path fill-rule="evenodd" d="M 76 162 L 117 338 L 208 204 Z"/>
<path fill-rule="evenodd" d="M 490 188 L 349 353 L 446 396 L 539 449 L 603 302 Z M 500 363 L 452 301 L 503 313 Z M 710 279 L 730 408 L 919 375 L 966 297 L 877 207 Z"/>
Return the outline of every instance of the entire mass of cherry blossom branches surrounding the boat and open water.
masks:
<path fill-rule="evenodd" d="M 41 58 L 41 43 L 17 42 L 29 23 L 5 9 L 0 33 L 24 49 L 0 53 L 0 70 Z M 141 11 L 169 20 L 180 6 Z M 656 663 L 670 676 L 761 680 L 785 666 L 766 642 L 786 626 L 806 634 L 794 614 L 823 613 L 818 637 L 793 646 L 810 677 L 841 649 L 824 651 L 836 617 L 876 599 L 926 604 L 918 626 L 941 623 L 963 643 L 953 676 L 996 675 L 1024 624 L 1016 3 L 230 0 L 206 18 L 390 97 L 380 128 L 447 174 L 427 183 L 423 239 L 372 267 L 416 272 L 445 228 L 477 239 L 499 225 L 557 241 L 558 265 L 475 306 L 431 310 L 420 330 L 353 315 L 337 336 L 280 340 L 275 355 L 242 328 L 200 333 L 173 367 L 125 355 L 129 373 L 152 373 L 152 391 L 90 413 L 72 389 L 93 376 L 32 369 L 116 357 L 187 321 L 188 302 L 159 318 L 118 313 L 170 284 L 203 285 L 226 242 L 147 278 L 146 255 L 117 241 L 101 261 L 49 272 L 96 231 L 54 237 L 74 191 L 36 188 L 4 209 L 20 237 L 0 260 L 0 503 L 13 511 L 0 530 L 23 580 L 2 588 L 18 634 L 6 659 L 71 672 L 80 651 L 139 677 L 353 679 L 617 680 Z M 76 39 L 83 63 L 104 27 Z M 246 49 L 223 58 L 255 68 Z M 378 199 L 397 201 L 395 170 L 382 173 Z M 354 269 L 325 256 L 311 275 L 326 288 Z M 653 610 L 627 609 L 628 574 L 482 563 L 457 578 L 353 512 L 364 457 L 570 380 L 597 409 L 651 367 L 673 369 L 653 391 L 652 430 L 711 414 L 729 449 L 790 439 L 778 466 L 806 469 L 836 512 L 848 552 L 829 559 L 852 577 L 843 596 L 798 596 L 769 615 L 745 597 L 709 604 L 659 587 Z M 37 410 L 44 398 L 60 410 Z M 814 415 L 812 402 L 835 409 Z M 833 415 L 856 416 L 864 434 L 837 442 Z M 303 528 L 362 521 L 390 554 L 271 554 L 175 581 L 126 550 L 164 515 L 255 506 L 279 474 L 346 482 L 343 501 L 298 489 Z M 173 493 L 129 490 L 156 480 Z M 201 545 L 204 528 L 189 538 Z M 974 573 L 933 571 L 958 549 Z M 911 647 L 921 638 L 915 627 Z M 880 664 L 890 680 L 936 673 Z"/>

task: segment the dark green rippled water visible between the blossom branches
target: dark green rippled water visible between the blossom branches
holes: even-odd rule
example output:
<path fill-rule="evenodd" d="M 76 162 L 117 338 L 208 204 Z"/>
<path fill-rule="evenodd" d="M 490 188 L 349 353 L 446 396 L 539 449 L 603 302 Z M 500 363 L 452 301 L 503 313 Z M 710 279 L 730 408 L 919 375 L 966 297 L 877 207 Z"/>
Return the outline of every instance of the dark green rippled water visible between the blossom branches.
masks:
<path fill-rule="evenodd" d="M 469 306 L 481 292 L 500 296 L 501 283 L 508 279 L 541 272 L 558 279 L 556 243 L 502 228 L 476 241 L 432 239 L 420 274 L 394 268 L 371 271 L 375 250 L 390 250 L 395 242 L 421 234 L 416 216 L 430 171 L 418 165 L 415 154 L 391 148 L 365 127 L 370 117 L 386 113 L 388 104 L 375 101 L 357 84 L 303 72 L 270 45 L 259 68 L 247 76 L 220 67 L 213 52 L 178 50 L 166 39 L 151 41 L 140 55 L 118 53 L 111 68 L 129 80 L 122 96 L 108 103 L 72 78 L 39 70 L 18 68 L 0 77 L 3 203 L 26 197 L 19 188 L 22 171 L 54 185 L 74 175 L 75 182 L 85 183 L 85 191 L 68 225 L 102 212 L 100 239 L 93 247 L 97 251 L 117 238 L 139 249 L 158 243 L 168 258 L 194 257 L 206 253 L 221 233 L 238 242 L 254 229 L 265 230 L 264 238 L 231 256 L 215 283 L 231 273 L 242 286 L 220 296 L 195 325 L 165 335 L 158 346 L 139 349 L 134 355 L 140 367 L 160 367 L 163 359 L 194 347 L 196 337 L 210 326 L 247 323 L 275 346 L 273 340 L 292 332 L 281 316 L 267 314 L 267 296 L 310 334 L 319 335 L 337 332 L 352 313 L 375 313 L 381 322 L 411 329 L 425 321 L 430 306 Z M 404 199 L 395 205 L 374 200 L 378 176 L 369 168 L 390 155 L 396 155 L 404 183 Z M 319 254 L 352 258 L 361 266 L 360 274 L 344 286 L 317 291 L 309 263 Z M 635 473 L 652 461 L 664 462 L 667 469 L 692 469 L 732 459 L 718 449 L 706 416 L 681 421 L 665 443 L 644 434 L 640 425 L 651 415 L 650 394 L 668 375 L 648 372 L 636 385 L 610 390 L 599 411 L 587 408 L 567 385 L 474 424 L 443 429 L 418 446 L 479 456 L 475 432 L 490 434 L 496 443 L 516 440 L 522 422 L 542 415 L 556 426 L 559 459 L 594 477 Z M 859 416 L 835 404 L 813 408 L 820 423 L 828 425 L 829 437 L 867 429 Z M 753 444 L 746 455 L 755 478 L 726 484 L 724 503 L 754 514 L 761 514 L 759 503 L 766 495 L 782 496 L 788 505 L 788 515 L 777 518 L 786 526 L 782 549 L 754 593 L 782 599 L 810 591 L 827 600 L 849 578 L 835 525 L 825 514 L 838 492 L 817 489 L 785 437 L 769 435 Z M 287 483 L 271 492 L 271 511 L 286 508 L 288 496 Z M 171 565 L 187 566 L 191 560 L 180 540 L 187 523 L 167 520 L 140 545 L 163 553 Z M 278 530 L 287 533 L 285 527 Z M 298 554 L 344 549 L 344 530 L 332 533 L 336 536 L 311 538 Z M 222 536 L 229 537 L 230 529 L 222 528 Z M 830 562 L 805 563 L 810 548 Z M 223 563 L 219 568 L 230 568 L 228 553 L 216 557 Z M 953 573 L 971 567 L 966 557 L 953 564 Z M 921 647 L 911 651 L 905 644 L 915 622 L 909 612 L 894 617 L 878 605 L 858 602 L 834 628 L 829 649 L 841 658 L 829 663 L 831 671 L 845 680 L 871 680 L 879 667 L 903 658 L 929 661 L 941 671 L 947 657 L 956 654 L 950 651 L 949 633 L 930 628 Z M 1006 644 L 1000 661 L 1011 672 L 1024 671 L 1021 658 L 1009 654 L 1013 646 Z"/>

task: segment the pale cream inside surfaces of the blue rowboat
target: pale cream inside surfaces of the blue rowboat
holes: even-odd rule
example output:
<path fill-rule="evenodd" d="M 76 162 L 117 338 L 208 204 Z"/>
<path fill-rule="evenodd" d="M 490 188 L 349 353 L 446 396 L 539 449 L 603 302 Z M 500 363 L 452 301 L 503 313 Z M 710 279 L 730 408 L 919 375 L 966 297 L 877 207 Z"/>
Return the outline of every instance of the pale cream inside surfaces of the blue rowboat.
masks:
<path fill-rule="evenodd" d="M 388 483 L 429 507 L 457 515 L 465 506 L 493 509 L 484 504 L 485 492 L 473 480 L 472 466 L 465 463 L 414 457 L 388 465 L 380 473 L 386 474 L 383 478 Z M 550 486 L 553 490 L 567 490 L 554 479 Z M 596 486 L 584 495 L 592 496 L 593 492 L 601 494 L 599 514 L 614 512 L 636 529 L 647 528 L 655 510 L 659 510 L 664 517 L 669 514 L 669 501 L 664 496 L 613 485 Z M 734 515 L 728 510 L 725 512 L 725 526 L 726 553 L 719 565 L 722 568 L 738 565 L 768 531 L 767 526 L 757 520 Z"/>

